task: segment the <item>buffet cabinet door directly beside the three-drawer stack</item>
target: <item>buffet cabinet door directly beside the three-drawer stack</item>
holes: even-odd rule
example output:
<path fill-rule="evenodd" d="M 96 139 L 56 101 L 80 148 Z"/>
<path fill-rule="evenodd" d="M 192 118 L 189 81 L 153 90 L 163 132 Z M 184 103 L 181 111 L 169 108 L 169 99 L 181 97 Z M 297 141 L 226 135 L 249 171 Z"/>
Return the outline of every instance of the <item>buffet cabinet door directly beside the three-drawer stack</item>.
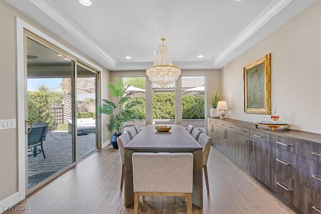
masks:
<path fill-rule="evenodd" d="M 252 139 L 250 142 L 250 172 L 271 186 L 270 145 Z"/>

